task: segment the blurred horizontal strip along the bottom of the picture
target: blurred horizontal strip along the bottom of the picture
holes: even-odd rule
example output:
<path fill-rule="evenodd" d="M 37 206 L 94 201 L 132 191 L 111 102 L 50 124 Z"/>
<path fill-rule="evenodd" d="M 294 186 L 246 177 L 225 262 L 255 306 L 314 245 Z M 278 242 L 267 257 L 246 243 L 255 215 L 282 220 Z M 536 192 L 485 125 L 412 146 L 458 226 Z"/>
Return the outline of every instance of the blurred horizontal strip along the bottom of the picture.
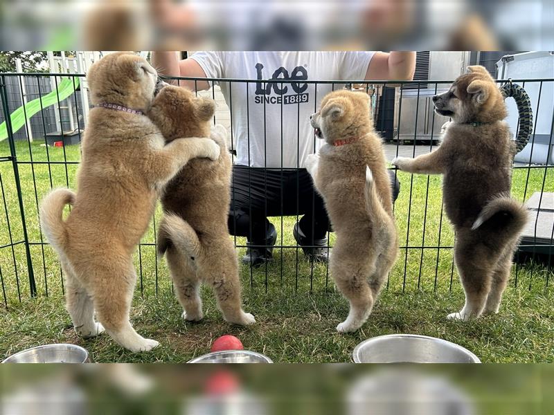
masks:
<path fill-rule="evenodd" d="M 551 365 L 3 365 L 3 414 L 552 414 Z"/>

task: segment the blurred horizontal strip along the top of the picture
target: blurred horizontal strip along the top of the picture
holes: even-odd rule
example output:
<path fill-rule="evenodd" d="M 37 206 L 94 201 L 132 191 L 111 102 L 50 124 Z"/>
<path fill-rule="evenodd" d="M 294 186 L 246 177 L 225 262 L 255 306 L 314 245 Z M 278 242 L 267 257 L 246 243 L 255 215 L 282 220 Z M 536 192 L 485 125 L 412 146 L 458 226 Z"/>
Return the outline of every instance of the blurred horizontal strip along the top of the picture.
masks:
<path fill-rule="evenodd" d="M 549 0 L 4 0 L 3 49 L 553 50 Z"/>

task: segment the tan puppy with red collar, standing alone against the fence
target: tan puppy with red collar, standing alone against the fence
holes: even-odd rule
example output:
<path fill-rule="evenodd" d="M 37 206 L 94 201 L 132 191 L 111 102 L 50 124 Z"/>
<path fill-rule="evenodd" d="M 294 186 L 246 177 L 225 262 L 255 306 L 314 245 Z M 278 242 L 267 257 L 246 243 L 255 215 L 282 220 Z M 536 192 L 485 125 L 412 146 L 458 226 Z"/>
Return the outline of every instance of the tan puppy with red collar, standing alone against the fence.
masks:
<path fill-rule="evenodd" d="M 339 332 L 366 322 L 398 251 L 391 181 L 370 113 L 365 93 L 334 91 L 310 117 L 325 145 L 306 168 L 337 234 L 329 269 L 350 302 Z"/>

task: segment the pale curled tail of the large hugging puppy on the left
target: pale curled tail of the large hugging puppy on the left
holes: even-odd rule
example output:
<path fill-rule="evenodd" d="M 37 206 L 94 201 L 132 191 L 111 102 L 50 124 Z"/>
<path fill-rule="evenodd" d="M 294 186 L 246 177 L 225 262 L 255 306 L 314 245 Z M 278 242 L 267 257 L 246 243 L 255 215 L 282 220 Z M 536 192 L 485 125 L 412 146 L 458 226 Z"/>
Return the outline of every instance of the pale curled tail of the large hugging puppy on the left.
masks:
<path fill-rule="evenodd" d="M 58 252 L 67 243 L 67 232 L 62 213 L 65 205 L 75 203 L 75 193 L 69 189 L 55 189 L 48 193 L 40 204 L 40 225 L 46 239 Z"/>

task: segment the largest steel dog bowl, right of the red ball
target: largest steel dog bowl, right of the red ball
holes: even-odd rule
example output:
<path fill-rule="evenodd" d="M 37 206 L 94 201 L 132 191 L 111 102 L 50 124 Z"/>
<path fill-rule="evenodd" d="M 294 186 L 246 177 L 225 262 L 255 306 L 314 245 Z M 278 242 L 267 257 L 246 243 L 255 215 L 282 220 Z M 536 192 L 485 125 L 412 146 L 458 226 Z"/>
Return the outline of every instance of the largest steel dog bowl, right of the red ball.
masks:
<path fill-rule="evenodd" d="M 358 344 L 352 354 L 356 363 L 481 363 L 458 344 L 415 334 L 370 338 Z"/>

